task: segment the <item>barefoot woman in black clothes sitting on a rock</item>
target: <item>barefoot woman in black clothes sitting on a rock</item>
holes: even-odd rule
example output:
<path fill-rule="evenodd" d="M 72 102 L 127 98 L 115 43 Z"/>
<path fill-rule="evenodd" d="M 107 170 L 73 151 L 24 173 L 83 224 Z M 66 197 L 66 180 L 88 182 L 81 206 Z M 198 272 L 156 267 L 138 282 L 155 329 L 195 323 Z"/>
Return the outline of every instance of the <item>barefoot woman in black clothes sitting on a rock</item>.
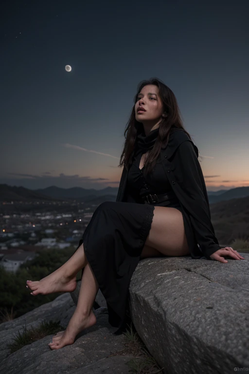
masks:
<path fill-rule="evenodd" d="M 183 128 L 174 93 L 159 79 L 140 83 L 126 132 L 116 202 L 97 207 L 65 264 L 41 281 L 27 281 L 32 295 L 72 292 L 82 269 L 75 312 L 67 329 L 53 337 L 51 349 L 73 344 L 80 331 L 96 323 L 92 305 L 99 288 L 109 323 L 118 327 L 116 334 L 122 332 L 129 282 L 143 258 L 243 259 L 218 244 L 197 147 Z"/>

